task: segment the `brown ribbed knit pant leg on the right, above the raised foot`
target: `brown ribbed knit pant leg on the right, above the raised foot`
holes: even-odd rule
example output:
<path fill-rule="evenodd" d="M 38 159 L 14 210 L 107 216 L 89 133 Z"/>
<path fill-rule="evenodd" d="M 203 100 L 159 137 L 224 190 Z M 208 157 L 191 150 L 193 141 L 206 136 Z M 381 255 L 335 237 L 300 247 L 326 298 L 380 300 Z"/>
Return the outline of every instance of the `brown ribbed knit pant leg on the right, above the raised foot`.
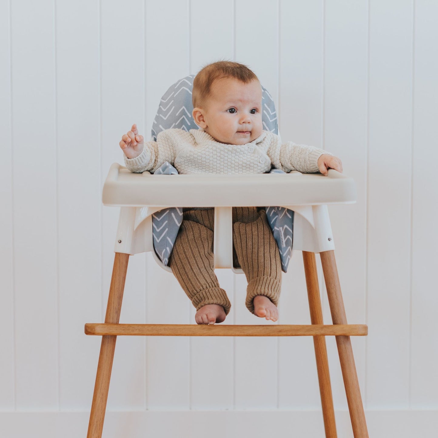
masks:
<path fill-rule="evenodd" d="M 281 260 L 266 212 L 256 207 L 233 208 L 233 244 L 247 282 L 245 305 L 254 313 L 254 297 L 265 295 L 278 304 Z"/>

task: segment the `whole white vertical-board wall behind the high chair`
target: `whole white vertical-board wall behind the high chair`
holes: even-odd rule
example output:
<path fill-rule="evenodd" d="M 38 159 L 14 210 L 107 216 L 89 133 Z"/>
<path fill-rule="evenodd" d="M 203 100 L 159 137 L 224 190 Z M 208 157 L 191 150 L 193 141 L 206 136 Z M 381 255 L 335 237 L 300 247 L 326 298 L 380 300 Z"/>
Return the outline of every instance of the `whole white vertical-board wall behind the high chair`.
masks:
<path fill-rule="evenodd" d="M 148 137 L 168 86 L 221 58 L 258 74 L 283 140 L 326 148 L 355 178 L 357 203 L 330 212 L 348 320 L 369 326 L 353 350 L 370 435 L 434 436 L 437 20 L 432 0 L 1 2 L 0 436 L 85 436 L 100 339 L 83 324 L 103 319 L 118 218 L 101 205 L 103 180 L 123 163 L 131 124 Z M 279 323 L 309 323 L 299 252 L 289 271 Z M 244 276 L 218 277 L 233 304 L 227 321 L 263 323 L 244 307 Z M 330 321 L 322 281 L 321 293 Z M 194 313 L 150 254 L 131 258 L 122 322 L 193 323 Z M 350 437 L 327 344 L 339 436 Z M 323 430 L 308 338 L 119 338 L 108 409 L 132 416 L 109 416 L 106 436 L 144 436 L 144 424 L 174 434 L 159 410 L 184 437 L 213 417 L 175 411 L 234 411 L 215 417 L 230 437 L 260 419 L 253 436 Z M 272 410 L 289 417 L 269 420 Z"/>

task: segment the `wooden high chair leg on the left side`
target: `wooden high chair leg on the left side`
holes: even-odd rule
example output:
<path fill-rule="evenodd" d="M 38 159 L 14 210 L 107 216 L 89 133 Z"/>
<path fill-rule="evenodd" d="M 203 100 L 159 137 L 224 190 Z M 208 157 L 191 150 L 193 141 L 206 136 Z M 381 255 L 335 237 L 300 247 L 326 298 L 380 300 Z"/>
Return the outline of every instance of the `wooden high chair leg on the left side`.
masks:
<path fill-rule="evenodd" d="M 116 253 L 109 286 L 105 322 L 118 324 L 129 254 Z M 102 336 L 87 438 L 101 438 L 117 336 Z"/>

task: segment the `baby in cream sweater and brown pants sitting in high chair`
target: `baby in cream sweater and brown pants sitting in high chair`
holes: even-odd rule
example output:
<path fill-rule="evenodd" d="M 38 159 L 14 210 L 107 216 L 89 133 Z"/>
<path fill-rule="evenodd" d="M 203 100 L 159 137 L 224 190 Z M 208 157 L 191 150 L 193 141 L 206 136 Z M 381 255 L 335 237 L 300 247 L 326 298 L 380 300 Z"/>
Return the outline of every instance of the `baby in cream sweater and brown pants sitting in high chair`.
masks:
<path fill-rule="evenodd" d="M 243 64 L 219 61 L 202 68 L 193 81 L 193 118 L 199 129 L 167 129 L 144 142 L 137 126 L 122 136 L 120 148 L 131 172 L 154 172 L 164 162 L 179 173 L 342 172 L 332 154 L 279 137 L 262 129 L 262 90 L 257 76 Z M 213 269 L 212 208 L 184 208 L 169 266 L 196 307 L 198 324 L 222 322 L 230 301 Z M 276 321 L 281 289 L 279 250 L 264 208 L 233 208 L 234 265 L 247 281 L 245 304 L 251 313 Z"/>

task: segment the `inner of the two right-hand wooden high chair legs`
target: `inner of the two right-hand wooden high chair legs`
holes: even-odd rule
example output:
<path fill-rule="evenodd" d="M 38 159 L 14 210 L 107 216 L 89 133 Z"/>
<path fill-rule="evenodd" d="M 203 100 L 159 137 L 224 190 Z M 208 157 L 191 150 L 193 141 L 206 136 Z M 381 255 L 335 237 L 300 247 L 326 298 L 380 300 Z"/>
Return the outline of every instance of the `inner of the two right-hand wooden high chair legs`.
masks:
<path fill-rule="evenodd" d="M 324 324 L 321 298 L 319 296 L 318 272 L 314 252 L 303 251 L 304 273 L 306 275 L 307 295 L 309 297 L 312 324 Z M 330 383 L 329 361 L 325 336 L 313 336 L 316 367 L 318 370 L 319 392 L 321 393 L 322 415 L 326 438 L 336 438 L 335 410 L 333 408 L 332 386 Z"/>

